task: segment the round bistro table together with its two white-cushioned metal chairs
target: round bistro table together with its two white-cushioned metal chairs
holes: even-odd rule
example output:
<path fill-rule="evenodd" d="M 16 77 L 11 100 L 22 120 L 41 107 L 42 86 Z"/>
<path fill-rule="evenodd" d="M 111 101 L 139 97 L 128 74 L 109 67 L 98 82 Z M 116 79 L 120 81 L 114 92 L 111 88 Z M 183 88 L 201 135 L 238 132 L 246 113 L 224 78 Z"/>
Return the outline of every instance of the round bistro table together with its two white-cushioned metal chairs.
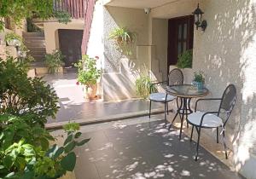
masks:
<path fill-rule="evenodd" d="M 168 103 L 176 100 L 177 113 L 172 119 L 172 123 L 169 125 L 169 130 L 172 127 L 173 122 L 179 115 L 181 119 L 181 126 L 179 132 L 179 139 L 182 136 L 183 121 L 192 125 L 190 141 L 192 141 L 194 128 L 197 131 L 197 144 L 195 161 L 198 159 L 198 149 L 201 137 L 201 129 L 216 129 L 217 143 L 218 143 L 218 130 L 222 128 L 222 136 L 224 140 L 225 158 L 228 159 L 227 147 L 225 142 L 225 125 L 227 124 L 230 114 L 236 103 L 236 87 L 234 84 L 230 84 L 224 90 L 222 97 L 220 98 L 201 98 L 209 94 L 207 88 L 197 90 L 193 84 L 183 84 L 183 72 L 180 69 L 173 69 L 169 72 L 168 80 L 165 82 L 155 83 L 153 85 L 166 84 L 166 92 L 164 93 L 151 93 L 149 95 L 149 118 L 151 115 L 151 103 L 152 101 L 161 102 L 165 105 L 165 126 L 167 125 L 166 115 L 168 115 Z M 201 98 L 195 101 L 195 112 L 190 107 L 190 101 L 193 98 Z M 202 101 L 219 101 L 218 111 L 199 112 L 197 107 Z"/>

